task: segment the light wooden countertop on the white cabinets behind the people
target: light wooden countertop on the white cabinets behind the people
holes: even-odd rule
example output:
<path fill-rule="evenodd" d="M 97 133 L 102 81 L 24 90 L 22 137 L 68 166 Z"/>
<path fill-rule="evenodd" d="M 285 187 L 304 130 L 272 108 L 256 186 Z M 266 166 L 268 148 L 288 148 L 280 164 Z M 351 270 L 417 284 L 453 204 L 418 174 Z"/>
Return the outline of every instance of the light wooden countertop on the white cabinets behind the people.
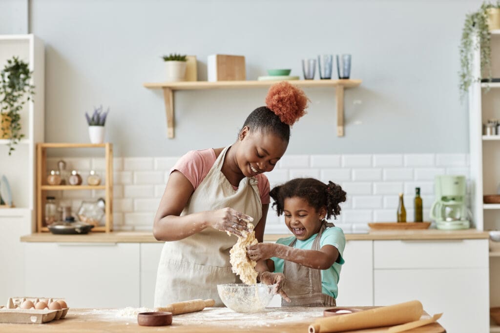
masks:
<path fill-rule="evenodd" d="M 291 236 L 264 235 L 264 241 L 273 242 L 278 238 Z M 380 230 L 365 234 L 345 234 L 347 241 L 354 240 L 449 240 L 449 239 L 487 239 L 486 231 L 475 229 L 444 231 L 427 230 Z M 51 233 L 37 233 L 21 237 L 21 242 L 49 242 L 49 243 L 159 243 L 151 232 L 118 231 L 110 233 L 89 233 L 88 235 L 52 235 Z"/>

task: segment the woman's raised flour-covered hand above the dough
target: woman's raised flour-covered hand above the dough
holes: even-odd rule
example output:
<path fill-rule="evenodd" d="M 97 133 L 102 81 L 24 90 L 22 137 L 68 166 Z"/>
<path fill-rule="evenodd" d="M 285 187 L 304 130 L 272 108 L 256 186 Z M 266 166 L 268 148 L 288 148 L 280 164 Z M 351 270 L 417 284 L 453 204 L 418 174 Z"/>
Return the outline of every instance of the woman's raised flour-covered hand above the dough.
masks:
<path fill-rule="evenodd" d="M 226 207 L 216 211 L 207 212 L 206 221 L 209 227 L 226 231 L 236 236 L 241 236 L 241 231 L 248 232 L 246 224 L 253 218 L 232 208 Z"/>

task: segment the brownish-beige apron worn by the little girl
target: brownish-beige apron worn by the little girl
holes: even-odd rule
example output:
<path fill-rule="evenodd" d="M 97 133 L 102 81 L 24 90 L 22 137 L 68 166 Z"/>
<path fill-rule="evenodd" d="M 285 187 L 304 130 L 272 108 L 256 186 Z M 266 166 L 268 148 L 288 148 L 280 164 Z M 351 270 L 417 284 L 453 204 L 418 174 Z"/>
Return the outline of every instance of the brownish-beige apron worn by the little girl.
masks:
<path fill-rule="evenodd" d="M 311 250 L 319 251 L 321 234 L 327 227 L 333 227 L 333 223 L 323 220 L 316 238 L 312 241 Z M 293 247 L 297 239 L 290 243 Z M 322 293 L 321 271 L 305 267 L 291 261 L 284 261 L 283 274 L 286 279 L 283 291 L 291 302 L 281 300 L 281 306 L 311 306 L 311 307 L 335 307 L 335 299 Z"/>

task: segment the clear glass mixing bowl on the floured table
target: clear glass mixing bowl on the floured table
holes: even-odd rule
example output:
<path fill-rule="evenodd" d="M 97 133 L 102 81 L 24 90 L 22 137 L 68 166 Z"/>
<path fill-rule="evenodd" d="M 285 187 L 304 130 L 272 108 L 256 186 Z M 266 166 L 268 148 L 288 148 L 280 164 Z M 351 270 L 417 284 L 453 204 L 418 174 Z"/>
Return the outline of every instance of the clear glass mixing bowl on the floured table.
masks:
<path fill-rule="evenodd" d="M 276 285 L 247 286 L 242 283 L 217 285 L 217 292 L 224 305 L 235 312 L 259 312 L 274 296 Z"/>

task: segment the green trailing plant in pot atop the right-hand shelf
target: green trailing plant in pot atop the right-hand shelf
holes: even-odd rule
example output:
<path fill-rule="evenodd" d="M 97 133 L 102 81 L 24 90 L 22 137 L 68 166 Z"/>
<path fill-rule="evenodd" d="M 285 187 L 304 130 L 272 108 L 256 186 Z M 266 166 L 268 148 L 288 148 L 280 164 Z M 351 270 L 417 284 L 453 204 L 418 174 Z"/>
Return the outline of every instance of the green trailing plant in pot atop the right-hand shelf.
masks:
<path fill-rule="evenodd" d="M 481 78 L 491 82 L 491 45 L 490 30 L 500 28 L 500 1 L 483 2 L 481 7 L 465 15 L 460 41 L 459 88 L 462 97 L 472 82 Z M 479 49 L 481 77 L 472 74 L 472 53 Z"/>

